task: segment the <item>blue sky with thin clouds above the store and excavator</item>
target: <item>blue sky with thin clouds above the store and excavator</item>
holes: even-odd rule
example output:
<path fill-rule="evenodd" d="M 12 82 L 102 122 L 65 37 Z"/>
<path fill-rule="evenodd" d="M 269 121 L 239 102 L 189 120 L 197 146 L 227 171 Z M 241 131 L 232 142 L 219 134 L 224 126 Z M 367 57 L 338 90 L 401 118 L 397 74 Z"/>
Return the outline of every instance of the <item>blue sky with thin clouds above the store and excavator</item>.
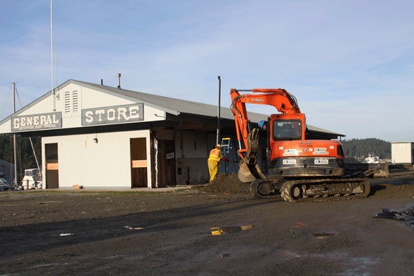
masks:
<path fill-rule="evenodd" d="M 414 1 L 53 1 L 53 85 L 69 79 L 230 107 L 284 88 L 307 123 L 414 141 Z M 0 10 L 0 120 L 52 87 L 50 0 Z M 248 105 L 269 114 L 270 107 Z"/>

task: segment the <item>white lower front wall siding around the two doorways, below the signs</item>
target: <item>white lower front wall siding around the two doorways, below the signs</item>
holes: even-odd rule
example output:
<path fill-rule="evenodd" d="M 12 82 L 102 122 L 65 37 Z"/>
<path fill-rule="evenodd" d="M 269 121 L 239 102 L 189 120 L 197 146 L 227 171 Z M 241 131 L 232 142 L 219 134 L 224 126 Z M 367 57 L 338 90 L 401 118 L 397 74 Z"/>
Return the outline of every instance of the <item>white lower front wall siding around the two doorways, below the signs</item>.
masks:
<path fill-rule="evenodd" d="M 84 188 L 131 188 L 130 138 L 145 137 L 148 187 L 151 186 L 149 130 L 98 133 L 96 137 L 97 144 L 93 142 L 95 134 L 43 137 L 43 175 L 46 176 L 45 144 L 57 143 L 59 188 L 76 184 Z"/>

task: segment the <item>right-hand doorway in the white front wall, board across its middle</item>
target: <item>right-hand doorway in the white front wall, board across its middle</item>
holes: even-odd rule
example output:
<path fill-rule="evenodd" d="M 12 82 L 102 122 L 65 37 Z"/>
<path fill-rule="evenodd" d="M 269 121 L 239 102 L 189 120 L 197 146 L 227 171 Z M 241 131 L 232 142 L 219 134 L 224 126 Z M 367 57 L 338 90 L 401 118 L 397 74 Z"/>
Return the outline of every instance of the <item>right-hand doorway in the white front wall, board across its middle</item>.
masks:
<path fill-rule="evenodd" d="M 146 138 L 130 139 L 131 188 L 147 187 Z"/>

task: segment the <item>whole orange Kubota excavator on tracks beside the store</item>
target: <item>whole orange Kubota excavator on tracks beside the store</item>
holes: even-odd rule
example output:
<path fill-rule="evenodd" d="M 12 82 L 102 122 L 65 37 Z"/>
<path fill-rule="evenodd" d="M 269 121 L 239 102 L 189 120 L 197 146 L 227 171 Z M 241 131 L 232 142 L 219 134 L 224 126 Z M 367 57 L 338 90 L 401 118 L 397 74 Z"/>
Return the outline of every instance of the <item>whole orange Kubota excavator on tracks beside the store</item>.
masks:
<path fill-rule="evenodd" d="M 241 94 L 241 92 L 253 92 Z M 308 139 L 306 117 L 284 89 L 230 90 L 239 150 L 239 180 L 250 183 L 255 197 L 280 194 L 285 201 L 367 197 L 370 184 L 344 174 L 344 150 L 337 140 Z M 257 165 L 260 128 L 250 124 L 246 103 L 273 106 L 264 124 L 268 174 Z"/>

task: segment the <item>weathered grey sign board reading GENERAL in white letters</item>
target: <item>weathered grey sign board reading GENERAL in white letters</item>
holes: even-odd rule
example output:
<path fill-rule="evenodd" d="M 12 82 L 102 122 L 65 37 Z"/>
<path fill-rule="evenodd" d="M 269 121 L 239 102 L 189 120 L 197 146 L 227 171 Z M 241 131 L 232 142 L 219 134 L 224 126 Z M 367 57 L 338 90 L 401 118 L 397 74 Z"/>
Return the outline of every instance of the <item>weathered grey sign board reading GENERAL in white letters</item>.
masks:
<path fill-rule="evenodd" d="M 12 132 L 62 127 L 62 113 L 52 112 L 12 117 Z"/>

